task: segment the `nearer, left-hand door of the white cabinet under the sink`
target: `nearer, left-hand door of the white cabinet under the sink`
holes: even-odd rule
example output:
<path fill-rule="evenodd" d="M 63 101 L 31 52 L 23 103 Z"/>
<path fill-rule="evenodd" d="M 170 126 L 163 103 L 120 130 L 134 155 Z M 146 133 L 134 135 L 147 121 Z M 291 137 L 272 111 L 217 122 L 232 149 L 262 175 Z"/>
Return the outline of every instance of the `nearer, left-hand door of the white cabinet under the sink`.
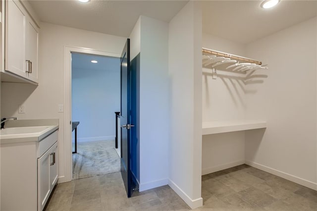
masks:
<path fill-rule="evenodd" d="M 50 150 L 38 158 L 38 210 L 42 211 L 51 193 Z"/>

